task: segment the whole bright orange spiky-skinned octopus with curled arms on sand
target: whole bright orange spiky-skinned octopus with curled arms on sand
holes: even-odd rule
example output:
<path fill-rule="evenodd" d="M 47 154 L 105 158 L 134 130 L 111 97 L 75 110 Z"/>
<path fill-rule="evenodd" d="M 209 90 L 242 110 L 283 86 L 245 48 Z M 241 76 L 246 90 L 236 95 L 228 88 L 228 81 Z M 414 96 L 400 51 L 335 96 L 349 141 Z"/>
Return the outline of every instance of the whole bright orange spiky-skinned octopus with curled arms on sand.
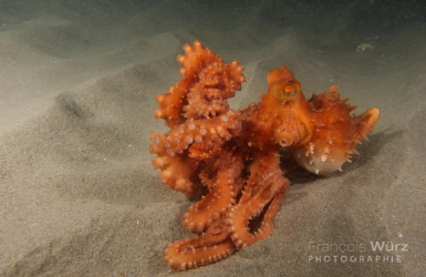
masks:
<path fill-rule="evenodd" d="M 361 115 L 340 99 L 337 85 L 306 100 L 293 73 L 282 65 L 268 74 L 258 104 L 231 109 L 227 100 L 246 81 L 238 61 L 227 64 L 195 41 L 178 55 L 181 80 L 158 94 L 156 119 L 169 131 L 152 132 L 149 152 L 162 183 L 199 202 L 184 215 L 198 236 L 169 244 L 164 260 L 186 270 L 221 260 L 269 237 L 290 185 L 280 166 L 284 147 L 291 164 L 329 175 L 342 171 L 354 146 L 373 131 L 377 107 Z"/>

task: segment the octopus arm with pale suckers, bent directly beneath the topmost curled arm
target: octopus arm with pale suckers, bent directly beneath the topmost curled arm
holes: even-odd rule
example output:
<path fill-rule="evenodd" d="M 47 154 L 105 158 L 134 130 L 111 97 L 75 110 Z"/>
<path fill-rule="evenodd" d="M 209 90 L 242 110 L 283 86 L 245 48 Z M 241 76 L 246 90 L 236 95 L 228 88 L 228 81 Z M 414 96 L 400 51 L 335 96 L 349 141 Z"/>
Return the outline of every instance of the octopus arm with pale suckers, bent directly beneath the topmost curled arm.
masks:
<path fill-rule="evenodd" d="M 241 114 L 229 110 L 211 120 L 186 122 L 172 129 L 167 134 L 152 132 L 149 146 L 155 168 L 159 168 L 159 179 L 170 188 L 187 196 L 196 196 L 198 182 L 198 160 L 205 160 L 241 132 Z M 189 152 L 189 153 L 188 153 Z M 187 156 L 193 157 L 187 161 Z"/>

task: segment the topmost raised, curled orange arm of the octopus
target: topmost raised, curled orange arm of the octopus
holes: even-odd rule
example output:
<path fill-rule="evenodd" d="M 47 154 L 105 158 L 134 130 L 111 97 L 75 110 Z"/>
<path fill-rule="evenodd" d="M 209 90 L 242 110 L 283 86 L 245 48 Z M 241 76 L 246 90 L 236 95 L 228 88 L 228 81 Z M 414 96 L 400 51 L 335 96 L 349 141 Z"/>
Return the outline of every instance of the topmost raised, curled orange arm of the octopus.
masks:
<path fill-rule="evenodd" d="M 246 78 L 243 68 L 235 61 L 225 63 L 217 54 L 195 41 L 193 47 L 184 47 L 185 55 L 178 55 L 183 79 L 170 86 L 166 94 L 157 95 L 159 109 L 156 119 L 163 119 L 174 127 L 187 120 L 220 115 L 229 110 L 226 99 L 241 89 Z"/>

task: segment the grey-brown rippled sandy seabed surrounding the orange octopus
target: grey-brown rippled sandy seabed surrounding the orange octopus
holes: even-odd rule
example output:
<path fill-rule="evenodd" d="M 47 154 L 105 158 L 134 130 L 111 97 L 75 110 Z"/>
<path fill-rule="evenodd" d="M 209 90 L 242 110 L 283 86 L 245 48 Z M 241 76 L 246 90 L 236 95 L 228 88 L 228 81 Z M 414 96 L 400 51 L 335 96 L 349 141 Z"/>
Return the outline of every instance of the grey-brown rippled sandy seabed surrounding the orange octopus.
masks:
<path fill-rule="evenodd" d="M 339 84 L 382 117 L 343 173 L 293 179 L 270 238 L 179 275 L 425 276 L 425 8 L 386 3 L 1 1 L 0 275 L 177 275 L 162 252 L 194 203 L 157 179 L 149 133 L 200 40 L 246 69 L 233 107 L 285 63 L 308 98 Z"/>

